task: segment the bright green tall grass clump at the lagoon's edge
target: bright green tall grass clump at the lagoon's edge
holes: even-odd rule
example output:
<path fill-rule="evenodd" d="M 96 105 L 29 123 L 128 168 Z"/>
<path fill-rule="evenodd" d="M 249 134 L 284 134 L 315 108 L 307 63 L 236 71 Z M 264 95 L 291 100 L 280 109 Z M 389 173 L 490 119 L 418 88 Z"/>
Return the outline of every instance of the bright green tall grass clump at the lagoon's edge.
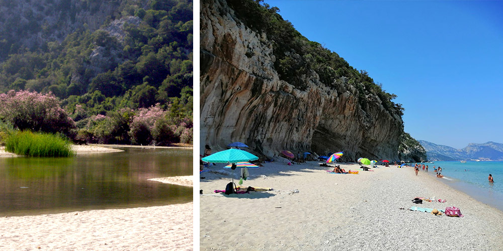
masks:
<path fill-rule="evenodd" d="M 15 132 L 6 139 L 5 151 L 29 157 L 69 157 L 72 142 L 54 134 Z"/>

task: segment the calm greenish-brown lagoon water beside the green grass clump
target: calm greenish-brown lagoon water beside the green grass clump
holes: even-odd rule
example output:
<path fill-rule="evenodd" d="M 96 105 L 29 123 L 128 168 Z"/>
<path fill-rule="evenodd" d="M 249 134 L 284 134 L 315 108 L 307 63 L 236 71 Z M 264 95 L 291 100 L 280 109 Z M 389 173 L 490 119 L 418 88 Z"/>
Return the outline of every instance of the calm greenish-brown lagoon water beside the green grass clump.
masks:
<path fill-rule="evenodd" d="M 192 187 L 147 180 L 192 175 L 192 150 L 122 150 L 73 158 L 0 158 L 0 216 L 192 201 Z"/>

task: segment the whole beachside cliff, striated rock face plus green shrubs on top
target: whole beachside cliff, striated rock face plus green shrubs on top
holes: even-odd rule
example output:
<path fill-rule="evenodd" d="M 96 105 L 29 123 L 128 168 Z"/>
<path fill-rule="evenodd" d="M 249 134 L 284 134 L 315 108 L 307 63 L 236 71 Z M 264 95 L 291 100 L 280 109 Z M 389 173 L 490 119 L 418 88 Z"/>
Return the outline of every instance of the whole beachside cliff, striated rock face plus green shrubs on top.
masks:
<path fill-rule="evenodd" d="M 287 149 L 426 161 L 403 132 L 396 95 L 277 11 L 251 0 L 201 1 L 201 146 L 239 141 L 271 157 Z"/>

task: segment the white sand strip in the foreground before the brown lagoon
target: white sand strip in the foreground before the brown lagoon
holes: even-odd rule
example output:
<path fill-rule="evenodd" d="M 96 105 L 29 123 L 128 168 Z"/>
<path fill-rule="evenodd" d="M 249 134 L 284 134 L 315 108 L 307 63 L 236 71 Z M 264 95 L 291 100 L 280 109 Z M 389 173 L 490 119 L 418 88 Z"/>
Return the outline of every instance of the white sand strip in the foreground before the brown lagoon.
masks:
<path fill-rule="evenodd" d="M 0 250 L 193 250 L 193 203 L 0 218 Z"/>

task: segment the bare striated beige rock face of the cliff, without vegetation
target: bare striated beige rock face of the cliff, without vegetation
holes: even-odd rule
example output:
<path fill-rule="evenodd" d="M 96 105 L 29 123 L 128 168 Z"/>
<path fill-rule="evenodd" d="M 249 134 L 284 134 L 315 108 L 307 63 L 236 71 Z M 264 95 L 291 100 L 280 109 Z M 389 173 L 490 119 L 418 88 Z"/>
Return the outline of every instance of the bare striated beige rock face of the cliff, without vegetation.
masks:
<path fill-rule="evenodd" d="M 239 141 L 268 156 L 286 149 L 398 160 L 401 116 L 376 95 L 359 102 L 344 77 L 329 87 L 315 72 L 302 76 L 302 90 L 280 80 L 273 41 L 239 22 L 225 1 L 203 1 L 200 20 L 201 153 L 205 144 L 215 152 Z"/>

